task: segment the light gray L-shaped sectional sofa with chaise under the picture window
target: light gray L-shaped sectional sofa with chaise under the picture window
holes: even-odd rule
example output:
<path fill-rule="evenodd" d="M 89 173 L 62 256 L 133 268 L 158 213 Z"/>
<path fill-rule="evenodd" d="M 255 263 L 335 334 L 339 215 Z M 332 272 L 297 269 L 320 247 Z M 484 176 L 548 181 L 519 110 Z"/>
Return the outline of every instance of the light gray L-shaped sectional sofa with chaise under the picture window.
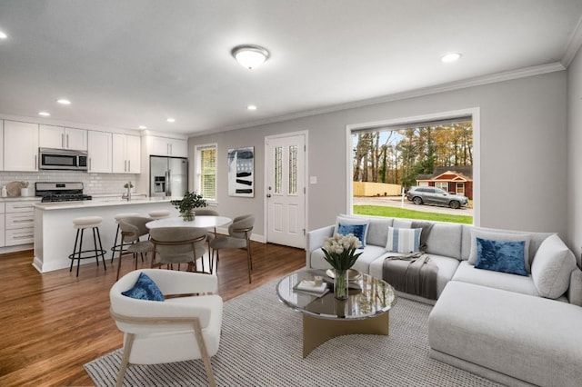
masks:
<path fill-rule="evenodd" d="M 366 246 L 354 268 L 377 278 L 383 278 L 386 257 L 398 255 L 386 251 L 388 227 L 418 225 L 341 219 L 367 222 Z M 338 217 L 335 225 L 307 233 L 308 268 L 329 267 L 321 247 L 341 222 Z M 476 268 L 476 244 L 484 239 L 523 240 L 527 275 Z M 431 357 L 507 385 L 582 385 L 582 271 L 557 234 L 432 223 L 425 242 L 438 268 L 437 300 L 399 294 L 435 304 L 428 322 Z"/>

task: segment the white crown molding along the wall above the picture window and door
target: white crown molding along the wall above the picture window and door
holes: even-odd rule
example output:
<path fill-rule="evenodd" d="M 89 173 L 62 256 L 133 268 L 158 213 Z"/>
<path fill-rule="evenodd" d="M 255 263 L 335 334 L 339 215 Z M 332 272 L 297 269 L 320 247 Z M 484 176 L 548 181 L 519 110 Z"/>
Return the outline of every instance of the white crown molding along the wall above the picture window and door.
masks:
<path fill-rule="evenodd" d="M 502 73 L 497 73 L 497 74 L 477 76 L 474 78 L 468 78 L 468 79 L 465 79 L 462 81 L 450 82 L 447 84 L 438 84 L 435 86 L 424 87 L 421 89 L 411 90 L 411 91 L 407 91 L 407 92 L 403 92 L 403 93 L 387 94 L 387 95 L 383 95 L 380 97 L 353 101 L 353 102 L 349 102 L 346 104 L 335 104 L 335 105 L 331 105 L 331 106 L 326 106 L 326 107 L 321 107 L 321 108 L 316 108 L 316 109 L 311 109 L 311 110 L 305 110 L 302 112 L 296 112 L 296 113 L 292 113 L 292 114 L 279 115 L 277 117 L 266 118 L 263 120 L 256 120 L 256 121 L 253 121 L 251 123 L 246 123 L 246 124 L 236 124 L 236 125 L 231 125 L 231 126 L 225 126 L 222 128 L 207 129 L 207 130 L 204 130 L 201 132 L 190 133 L 190 134 L 188 134 L 188 136 L 189 137 L 196 137 L 196 136 L 205 135 L 205 134 L 215 134 L 215 133 L 217 133 L 216 132 L 217 129 L 218 129 L 218 132 L 228 132 L 228 131 L 233 131 L 233 130 L 237 130 L 237 129 L 246 129 L 246 128 L 254 127 L 254 126 L 261 126 L 261 125 L 266 125 L 266 124 L 275 124 L 275 123 L 280 123 L 280 122 L 284 122 L 284 121 L 296 120 L 298 118 L 305 118 L 305 117 L 309 117 L 312 115 L 333 113 L 333 112 L 337 112 L 337 111 L 341 111 L 341 110 L 369 106 L 372 104 L 385 104 L 387 102 L 394 102 L 394 101 L 404 100 L 404 99 L 408 99 L 408 98 L 416 98 L 416 97 L 430 95 L 430 94 L 445 93 L 445 92 L 450 92 L 450 91 L 454 91 L 454 90 L 465 89 L 467 87 L 480 86 L 480 85 L 484 85 L 484 84 L 496 84 L 498 82 L 509 81 L 512 79 L 526 78 L 528 76 L 554 73 L 554 72 L 563 71 L 563 70 L 566 70 L 566 66 L 562 65 L 562 63 L 560 63 L 560 62 L 555 62 L 555 63 L 547 64 L 547 65 L 536 65 L 536 66 L 521 68 L 518 70 L 511 70 L 511 71 L 506 71 L 506 72 L 502 72 Z"/>

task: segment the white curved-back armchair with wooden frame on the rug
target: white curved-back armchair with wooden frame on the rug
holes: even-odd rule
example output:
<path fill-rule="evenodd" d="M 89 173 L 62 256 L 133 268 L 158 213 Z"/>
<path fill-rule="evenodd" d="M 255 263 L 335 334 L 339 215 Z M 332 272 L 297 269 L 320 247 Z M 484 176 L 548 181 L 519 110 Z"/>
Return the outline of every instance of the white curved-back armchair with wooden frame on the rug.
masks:
<path fill-rule="evenodd" d="M 122 294 L 134 287 L 142 272 L 156 283 L 165 301 Z M 163 269 L 136 270 L 117 281 L 109 293 L 111 315 L 125 334 L 116 385 L 123 384 L 128 365 L 192 359 L 204 361 L 208 382 L 216 385 L 210 357 L 218 352 L 223 310 L 222 298 L 212 294 L 216 290 L 214 275 Z"/>

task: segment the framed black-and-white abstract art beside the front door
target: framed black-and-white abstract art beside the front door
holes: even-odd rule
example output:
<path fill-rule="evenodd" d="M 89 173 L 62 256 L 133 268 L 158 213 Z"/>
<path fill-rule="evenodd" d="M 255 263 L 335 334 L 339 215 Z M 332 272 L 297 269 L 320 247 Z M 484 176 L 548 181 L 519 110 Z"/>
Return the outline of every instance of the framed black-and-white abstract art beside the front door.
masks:
<path fill-rule="evenodd" d="M 228 195 L 255 197 L 255 147 L 228 150 Z"/>

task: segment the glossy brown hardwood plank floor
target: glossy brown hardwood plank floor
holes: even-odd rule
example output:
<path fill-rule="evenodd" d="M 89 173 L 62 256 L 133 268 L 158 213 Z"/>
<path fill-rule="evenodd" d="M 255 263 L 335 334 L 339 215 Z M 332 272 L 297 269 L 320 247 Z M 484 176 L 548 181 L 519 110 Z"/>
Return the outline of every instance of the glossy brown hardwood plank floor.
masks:
<path fill-rule="evenodd" d="M 305 251 L 253 243 L 253 283 L 248 283 L 246 253 L 220 254 L 218 293 L 229 300 L 305 266 Z M 0 385 L 93 385 L 83 364 L 121 347 L 122 333 L 109 315 L 114 265 L 106 260 L 38 273 L 33 253 L 0 255 Z M 146 260 L 147 261 L 147 260 Z M 139 263 L 147 267 L 149 263 Z M 127 256 L 122 275 L 134 269 Z"/>

